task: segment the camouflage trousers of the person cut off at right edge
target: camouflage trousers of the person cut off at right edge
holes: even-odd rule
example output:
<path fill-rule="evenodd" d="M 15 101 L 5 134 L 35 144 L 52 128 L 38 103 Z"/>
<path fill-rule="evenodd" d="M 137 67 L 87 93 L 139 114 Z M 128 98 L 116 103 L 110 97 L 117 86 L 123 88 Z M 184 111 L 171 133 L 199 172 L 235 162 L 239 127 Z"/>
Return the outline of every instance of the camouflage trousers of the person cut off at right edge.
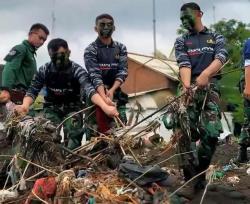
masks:
<path fill-rule="evenodd" d="M 250 146 L 250 101 L 244 99 L 244 123 L 241 128 L 239 144 Z"/>

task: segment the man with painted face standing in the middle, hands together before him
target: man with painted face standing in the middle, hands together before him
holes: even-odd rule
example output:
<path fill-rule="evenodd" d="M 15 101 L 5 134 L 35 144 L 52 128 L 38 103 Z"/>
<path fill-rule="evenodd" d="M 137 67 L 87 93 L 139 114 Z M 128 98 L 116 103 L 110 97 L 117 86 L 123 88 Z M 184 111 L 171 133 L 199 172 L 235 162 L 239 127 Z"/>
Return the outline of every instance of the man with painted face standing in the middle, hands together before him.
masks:
<path fill-rule="evenodd" d="M 114 30 L 112 16 L 102 14 L 96 17 L 95 31 L 98 37 L 85 49 L 84 61 L 96 91 L 107 104 L 114 105 L 113 101 L 116 102 L 120 118 L 126 123 L 125 105 L 128 96 L 121 91 L 120 86 L 128 75 L 127 49 L 123 44 L 113 41 Z M 111 121 L 105 118 L 102 111 L 97 109 L 96 117 L 90 119 L 90 123 L 93 126 L 97 123 L 98 131 L 104 133 L 112 126 Z"/>

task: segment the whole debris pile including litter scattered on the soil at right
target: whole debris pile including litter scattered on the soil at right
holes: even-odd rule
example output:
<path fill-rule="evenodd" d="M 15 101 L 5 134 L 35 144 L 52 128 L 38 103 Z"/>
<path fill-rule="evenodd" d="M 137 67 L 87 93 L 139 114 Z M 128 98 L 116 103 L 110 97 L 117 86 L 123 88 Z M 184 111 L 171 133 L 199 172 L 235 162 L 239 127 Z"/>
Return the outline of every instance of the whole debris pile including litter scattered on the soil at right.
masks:
<path fill-rule="evenodd" d="M 181 120 L 181 129 L 189 135 L 190 124 L 179 99 L 175 97 L 168 103 L 171 106 L 165 106 L 168 109 L 164 113 L 164 125 L 171 128 L 172 121 Z M 116 123 L 120 123 L 117 128 L 107 134 L 96 132 L 96 137 L 73 151 L 62 143 L 61 124 L 55 127 L 42 117 L 8 115 L 8 111 L 2 108 L 0 124 L 5 122 L 4 126 L 0 126 L 0 203 L 187 202 L 188 197 L 176 194 L 197 175 L 183 183 L 181 172 L 175 171 L 176 162 L 171 160 L 169 163 L 175 156 L 179 158 L 194 153 L 182 151 L 171 156 L 173 149 L 178 150 L 183 132 L 175 131 L 170 141 L 166 142 L 157 133 L 160 126 L 158 118 L 137 127 L 164 107 L 139 122 L 136 117 L 134 125 L 127 127 L 117 119 Z M 221 155 L 224 157 L 225 153 Z M 175 161 L 178 162 L 178 159 Z M 208 184 L 200 196 L 195 195 L 200 203 L 205 194 L 208 200 L 214 198 L 208 186 L 221 183 L 225 172 L 233 168 L 233 164 L 226 165 L 224 174 L 221 174 L 217 163 L 218 159 L 215 166 L 211 165 L 203 172 L 207 174 Z M 171 169 L 166 166 L 171 166 Z M 235 186 L 243 181 L 231 174 L 228 177 L 230 180 L 226 182 Z"/>

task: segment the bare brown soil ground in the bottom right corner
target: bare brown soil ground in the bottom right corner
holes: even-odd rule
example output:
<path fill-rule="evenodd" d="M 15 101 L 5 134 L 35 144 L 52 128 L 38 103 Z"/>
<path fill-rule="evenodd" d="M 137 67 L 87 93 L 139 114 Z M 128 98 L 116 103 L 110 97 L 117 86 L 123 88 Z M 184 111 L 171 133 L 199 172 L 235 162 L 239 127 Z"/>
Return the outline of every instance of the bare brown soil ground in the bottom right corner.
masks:
<path fill-rule="evenodd" d="M 212 164 L 222 170 L 225 165 L 230 164 L 230 160 L 237 157 L 238 144 L 222 144 L 217 147 Z M 248 156 L 250 152 L 248 152 Z M 208 186 L 203 204 L 250 204 L 250 175 L 246 173 L 250 168 L 248 164 L 238 164 L 238 169 L 225 172 L 223 178 L 216 179 Z M 237 176 L 238 183 L 228 181 L 229 177 Z M 203 195 L 203 190 L 196 193 L 193 199 L 187 199 L 183 203 L 199 204 Z"/>

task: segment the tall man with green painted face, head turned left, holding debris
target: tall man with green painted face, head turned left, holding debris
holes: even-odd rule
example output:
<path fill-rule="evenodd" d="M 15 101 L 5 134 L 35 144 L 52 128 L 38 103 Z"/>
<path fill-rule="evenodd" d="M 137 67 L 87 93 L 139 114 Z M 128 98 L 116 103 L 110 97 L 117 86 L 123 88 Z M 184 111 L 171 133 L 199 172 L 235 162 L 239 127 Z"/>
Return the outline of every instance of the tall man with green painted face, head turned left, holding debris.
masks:
<path fill-rule="evenodd" d="M 208 168 L 222 132 L 219 78 L 216 73 L 227 61 L 228 54 L 224 37 L 206 28 L 201 21 L 202 15 L 203 12 L 196 3 L 182 5 L 180 19 L 188 32 L 175 42 L 182 92 L 188 92 L 192 84 L 198 87 L 186 104 L 191 138 L 183 130 L 183 137 L 179 141 L 180 151 L 185 152 L 190 151 L 191 146 L 200 140 L 199 146 L 195 147 L 196 154 L 190 153 L 181 157 L 186 181 Z M 180 129 L 180 124 L 175 124 L 174 129 Z M 195 190 L 203 187 L 205 174 L 194 184 Z"/>

